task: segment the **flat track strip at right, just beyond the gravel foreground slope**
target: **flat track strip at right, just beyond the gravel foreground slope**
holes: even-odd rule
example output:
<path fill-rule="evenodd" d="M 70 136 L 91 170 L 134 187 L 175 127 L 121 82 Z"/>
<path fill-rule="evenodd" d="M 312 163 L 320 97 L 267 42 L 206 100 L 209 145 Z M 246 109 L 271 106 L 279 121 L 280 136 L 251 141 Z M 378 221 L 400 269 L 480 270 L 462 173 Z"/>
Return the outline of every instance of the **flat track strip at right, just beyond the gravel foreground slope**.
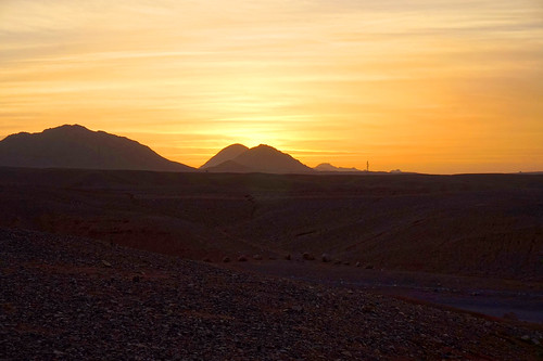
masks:
<path fill-rule="evenodd" d="M 543 284 L 452 274 L 366 270 L 319 260 L 233 262 L 232 269 L 327 286 L 346 286 L 491 318 L 543 324 Z"/>

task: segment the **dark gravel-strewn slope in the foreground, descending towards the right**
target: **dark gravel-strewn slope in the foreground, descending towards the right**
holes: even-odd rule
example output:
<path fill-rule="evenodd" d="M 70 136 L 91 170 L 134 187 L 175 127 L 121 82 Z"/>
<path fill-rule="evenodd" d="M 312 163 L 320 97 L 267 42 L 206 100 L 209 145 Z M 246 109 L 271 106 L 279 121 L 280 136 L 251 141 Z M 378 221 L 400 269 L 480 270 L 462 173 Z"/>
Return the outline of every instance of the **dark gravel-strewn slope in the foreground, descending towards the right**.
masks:
<path fill-rule="evenodd" d="M 538 360 L 543 332 L 349 285 L 0 229 L 3 360 Z"/>

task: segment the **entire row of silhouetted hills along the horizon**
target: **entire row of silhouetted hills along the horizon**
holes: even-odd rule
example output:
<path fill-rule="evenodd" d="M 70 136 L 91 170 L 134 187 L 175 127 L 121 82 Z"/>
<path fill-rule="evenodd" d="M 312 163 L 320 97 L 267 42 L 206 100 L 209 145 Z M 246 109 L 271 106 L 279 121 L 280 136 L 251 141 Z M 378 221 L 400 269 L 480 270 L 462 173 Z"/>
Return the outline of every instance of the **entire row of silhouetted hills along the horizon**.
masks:
<path fill-rule="evenodd" d="M 64 125 L 39 133 L 21 132 L 0 141 L 0 166 L 25 168 L 130 169 L 230 173 L 375 173 L 323 163 L 310 168 L 291 155 L 261 144 L 231 144 L 200 169 L 168 160 L 125 137 Z"/>

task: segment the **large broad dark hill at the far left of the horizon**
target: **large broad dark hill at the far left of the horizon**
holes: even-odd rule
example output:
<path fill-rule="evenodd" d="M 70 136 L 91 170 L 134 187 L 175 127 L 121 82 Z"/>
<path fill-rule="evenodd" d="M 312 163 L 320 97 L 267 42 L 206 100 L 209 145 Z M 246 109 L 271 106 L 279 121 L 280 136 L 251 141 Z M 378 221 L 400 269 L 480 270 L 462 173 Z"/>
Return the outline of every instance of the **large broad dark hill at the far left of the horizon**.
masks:
<path fill-rule="evenodd" d="M 40 133 L 22 132 L 0 141 L 0 166 L 28 168 L 131 169 L 193 171 L 168 160 L 149 146 L 79 125 Z"/>

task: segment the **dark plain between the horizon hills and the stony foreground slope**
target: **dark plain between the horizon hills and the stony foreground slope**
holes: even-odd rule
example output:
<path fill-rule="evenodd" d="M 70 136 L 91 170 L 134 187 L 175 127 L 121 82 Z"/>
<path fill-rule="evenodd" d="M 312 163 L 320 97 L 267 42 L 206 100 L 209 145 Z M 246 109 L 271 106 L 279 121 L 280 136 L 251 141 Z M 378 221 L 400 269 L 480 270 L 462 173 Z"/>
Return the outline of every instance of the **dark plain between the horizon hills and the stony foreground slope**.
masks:
<path fill-rule="evenodd" d="M 0 171 L 0 222 L 185 257 L 543 279 L 543 178 Z"/>

